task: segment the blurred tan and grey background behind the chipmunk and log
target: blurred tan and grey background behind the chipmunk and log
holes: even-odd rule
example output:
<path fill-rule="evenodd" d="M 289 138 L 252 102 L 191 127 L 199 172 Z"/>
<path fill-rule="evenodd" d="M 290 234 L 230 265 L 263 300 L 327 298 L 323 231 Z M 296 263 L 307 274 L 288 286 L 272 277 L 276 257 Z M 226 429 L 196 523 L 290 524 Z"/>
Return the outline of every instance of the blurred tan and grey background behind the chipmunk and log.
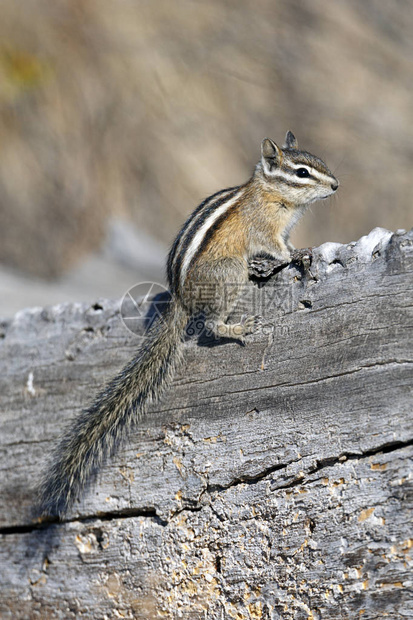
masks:
<path fill-rule="evenodd" d="M 0 316 L 163 281 L 287 129 L 341 181 L 293 243 L 413 226 L 411 0 L 0 0 Z"/>

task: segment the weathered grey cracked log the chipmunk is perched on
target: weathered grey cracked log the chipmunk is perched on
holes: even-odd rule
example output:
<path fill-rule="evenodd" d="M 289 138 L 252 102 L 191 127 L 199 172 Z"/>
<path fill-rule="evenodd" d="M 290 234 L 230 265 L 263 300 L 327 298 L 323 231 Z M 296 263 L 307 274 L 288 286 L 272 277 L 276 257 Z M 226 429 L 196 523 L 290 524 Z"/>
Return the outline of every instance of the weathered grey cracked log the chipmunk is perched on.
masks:
<path fill-rule="evenodd" d="M 413 231 L 251 283 L 246 347 L 190 340 L 63 523 L 34 488 L 140 340 L 118 303 L 0 325 L 1 618 L 413 618 Z"/>

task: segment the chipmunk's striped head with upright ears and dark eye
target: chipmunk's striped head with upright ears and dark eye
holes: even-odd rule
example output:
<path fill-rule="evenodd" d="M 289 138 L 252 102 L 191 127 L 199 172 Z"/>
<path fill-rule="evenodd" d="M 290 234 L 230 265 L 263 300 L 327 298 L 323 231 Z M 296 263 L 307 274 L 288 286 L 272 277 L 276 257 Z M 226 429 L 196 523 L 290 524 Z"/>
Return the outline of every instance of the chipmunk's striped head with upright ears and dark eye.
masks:
<path fill-rule="evenodd" d="M 256 174 L 293 204 L 304 205 L 333 194 L 339 182 L 325 163 L 298 149 L 297 140 L 291 131 L 285 136 L 280 148 L 264 138 L 261 144 L 261 161 Z"/>

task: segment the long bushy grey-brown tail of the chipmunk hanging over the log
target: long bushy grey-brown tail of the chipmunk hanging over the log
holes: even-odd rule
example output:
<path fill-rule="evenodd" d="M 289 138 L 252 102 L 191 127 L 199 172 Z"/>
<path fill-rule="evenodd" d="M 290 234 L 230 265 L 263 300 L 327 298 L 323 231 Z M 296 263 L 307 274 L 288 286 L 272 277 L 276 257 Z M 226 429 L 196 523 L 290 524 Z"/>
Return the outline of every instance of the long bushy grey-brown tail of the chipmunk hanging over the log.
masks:
<path fill-rule="evenodd" d="M 69 427 L 40 487 L 42 515 L 63 516 L 149 403 L 161 396 L 182 358 L 186 323 L 184 309 L 172 301 L 137 356 Z"/>

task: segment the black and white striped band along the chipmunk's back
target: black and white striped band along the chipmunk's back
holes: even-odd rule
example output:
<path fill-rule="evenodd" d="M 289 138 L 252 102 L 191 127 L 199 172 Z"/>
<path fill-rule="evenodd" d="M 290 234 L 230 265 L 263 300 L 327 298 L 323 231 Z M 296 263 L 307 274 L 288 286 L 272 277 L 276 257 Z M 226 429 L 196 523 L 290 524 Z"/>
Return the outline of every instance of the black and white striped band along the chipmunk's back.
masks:
<path fill-rule="evenodd" d="M 171 290 L 183 286 L 194 258 L 199 254 L 218 220 L 233 208 L 243 194 L 242 186 L 231 187 L 206 198 L 191 214 L 176 237 L 167 263 Z"/>

